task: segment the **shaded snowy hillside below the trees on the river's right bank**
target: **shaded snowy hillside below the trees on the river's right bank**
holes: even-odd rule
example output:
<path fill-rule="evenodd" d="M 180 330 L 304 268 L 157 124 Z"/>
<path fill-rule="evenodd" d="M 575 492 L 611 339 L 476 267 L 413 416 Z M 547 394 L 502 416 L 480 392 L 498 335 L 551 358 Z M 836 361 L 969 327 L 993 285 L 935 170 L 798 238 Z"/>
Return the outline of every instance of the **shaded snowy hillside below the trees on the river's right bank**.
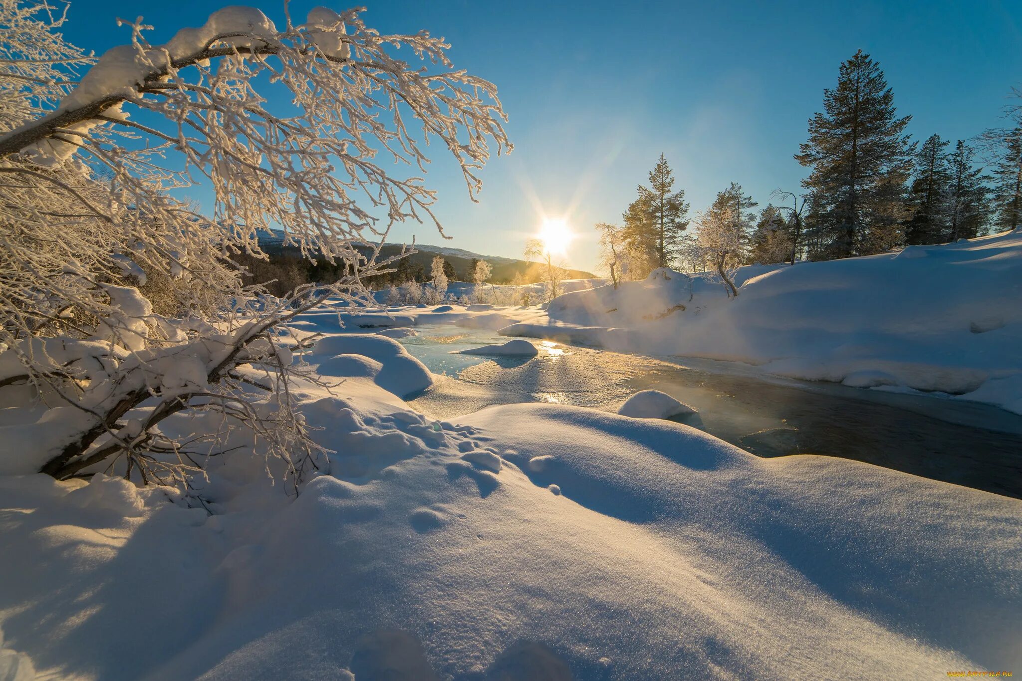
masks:
<path fill-rule="evenodd" d="M 508 335 L 758 364 L 791 378 L 963 395 L 1022 412 L 1022 233 L 827 262 L 656 271 L 568 293 Z"/>

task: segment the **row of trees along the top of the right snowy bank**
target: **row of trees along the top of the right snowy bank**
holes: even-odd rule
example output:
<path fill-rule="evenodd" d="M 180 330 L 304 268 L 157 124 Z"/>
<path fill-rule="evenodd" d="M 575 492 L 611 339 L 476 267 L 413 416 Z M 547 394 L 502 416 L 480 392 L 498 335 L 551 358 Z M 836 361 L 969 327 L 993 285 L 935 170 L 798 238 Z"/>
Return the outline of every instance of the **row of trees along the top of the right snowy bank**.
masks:
<path fill-rule="evenodd" d="M 970 142 L 931 135 L 920 145 L 904 132 L 912 116 L 897 115 L 883 71 L 862 50 L 841 64 L 823 104 L 795 154 L 809 168 L 802 192 L 777 190 L 778 204 L 758 212 L 733 182 L 690 220 L 661 154 L 622 223 L 597 225 L 601 264 L 615 284 L 665 266 L 713 269 L 730 282 L 739 264 L 869 255 L 1022 224 L 1022 104 L 1007 108 L 1004 128 Z"/>

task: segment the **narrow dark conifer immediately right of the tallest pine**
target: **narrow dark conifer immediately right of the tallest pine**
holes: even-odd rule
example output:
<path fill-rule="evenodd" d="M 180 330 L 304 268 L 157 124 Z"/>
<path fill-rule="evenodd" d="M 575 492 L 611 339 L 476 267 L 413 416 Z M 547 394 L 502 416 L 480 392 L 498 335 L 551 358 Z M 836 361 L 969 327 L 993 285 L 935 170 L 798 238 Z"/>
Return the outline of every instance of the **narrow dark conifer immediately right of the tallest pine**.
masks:
<path fill-rule="evenodd" d="M 944 226 L 940 208 L 947 184 L 950 181 L 949 158 L 944 148 L 949 141 L 931 135 L 916 154 L 914 179 L 909 190 L 912 218 L 905 223 L 904 240 L 908 244 L 937 244 L 943 241 Z"/>

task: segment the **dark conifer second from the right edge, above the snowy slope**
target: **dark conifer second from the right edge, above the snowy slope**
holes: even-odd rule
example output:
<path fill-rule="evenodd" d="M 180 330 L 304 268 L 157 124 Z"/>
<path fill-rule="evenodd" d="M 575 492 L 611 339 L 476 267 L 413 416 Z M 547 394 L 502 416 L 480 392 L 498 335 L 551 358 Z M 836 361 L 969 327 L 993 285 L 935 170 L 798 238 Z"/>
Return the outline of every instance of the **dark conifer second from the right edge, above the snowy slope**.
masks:
<path fill-rule="evenodd" d="M 972 239 L 983 234 L 989 220 L 986 183 L 989 176 L 973 166 L 976 152 L 959 140 L 948 158 L 949 178 L 940 197 L 938 214 L 947 241 Z"/>

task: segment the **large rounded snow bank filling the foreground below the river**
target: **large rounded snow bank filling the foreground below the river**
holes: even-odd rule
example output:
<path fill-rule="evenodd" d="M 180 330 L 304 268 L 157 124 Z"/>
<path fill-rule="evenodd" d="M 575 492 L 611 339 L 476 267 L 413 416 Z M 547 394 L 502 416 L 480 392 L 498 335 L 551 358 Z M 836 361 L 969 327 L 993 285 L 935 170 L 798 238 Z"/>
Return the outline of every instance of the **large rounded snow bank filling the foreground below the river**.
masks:
<path fill-rule="evenodd" d="M 1018 500 L 577 407 L 432 422 L 370 386 L 309 388 L 337 453 L 296 498 L 247 456 L 211 470 L 214 516 L 141 490 L 126 518 L 106 483 L 81 504 L 82 482 L 0 478 L 3 647 L 44 675 L 150 679 L 1022 663 Z"/>

